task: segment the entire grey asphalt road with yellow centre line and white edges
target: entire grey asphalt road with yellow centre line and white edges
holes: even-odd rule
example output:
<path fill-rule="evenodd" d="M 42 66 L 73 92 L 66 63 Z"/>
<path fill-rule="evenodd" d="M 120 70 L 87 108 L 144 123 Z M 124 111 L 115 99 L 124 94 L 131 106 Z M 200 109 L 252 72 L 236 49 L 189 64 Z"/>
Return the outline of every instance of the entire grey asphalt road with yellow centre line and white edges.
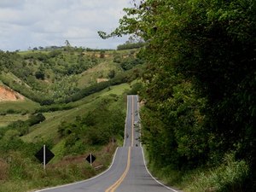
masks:
<path fill-rule="evenodd" d="M 108 171 L 88 180 L 63 185 L 44 192 L 177 192 L 154 180 L 149 174 L 139 143 L 138 97 L 127 96 L 124 146 L 117 148 Z"/>

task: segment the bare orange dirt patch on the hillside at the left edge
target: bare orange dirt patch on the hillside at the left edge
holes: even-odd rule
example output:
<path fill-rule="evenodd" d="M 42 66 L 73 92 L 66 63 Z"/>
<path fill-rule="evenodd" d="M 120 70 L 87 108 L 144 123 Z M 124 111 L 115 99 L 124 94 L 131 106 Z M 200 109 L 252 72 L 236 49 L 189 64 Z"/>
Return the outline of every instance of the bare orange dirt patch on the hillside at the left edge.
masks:
<path fill-rule="evenodd" d="M 17 102 L 23 101 L 24 96 L 21 96 L 20 93 L 11 90 L 9 87 L 0 85 L 0 102 Z"/>

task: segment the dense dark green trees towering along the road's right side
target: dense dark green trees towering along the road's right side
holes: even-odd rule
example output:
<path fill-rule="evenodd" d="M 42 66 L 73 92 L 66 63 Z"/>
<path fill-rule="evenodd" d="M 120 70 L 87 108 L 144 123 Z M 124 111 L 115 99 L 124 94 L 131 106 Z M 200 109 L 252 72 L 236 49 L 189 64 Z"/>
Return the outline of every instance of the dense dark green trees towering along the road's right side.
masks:
<path fill-rule="evenodd" d="M 236 154 L 249 165 L 241 176 L 248 183 L 241 179 L 235 188 L 235 180 L 214 191 L 254 191 L 254 1 L 144 0 L 125 11 L 119 28 L 99 34 L 130 33 L 147 43 L 142 119 L 150 162 L 192 170 Z"/>

